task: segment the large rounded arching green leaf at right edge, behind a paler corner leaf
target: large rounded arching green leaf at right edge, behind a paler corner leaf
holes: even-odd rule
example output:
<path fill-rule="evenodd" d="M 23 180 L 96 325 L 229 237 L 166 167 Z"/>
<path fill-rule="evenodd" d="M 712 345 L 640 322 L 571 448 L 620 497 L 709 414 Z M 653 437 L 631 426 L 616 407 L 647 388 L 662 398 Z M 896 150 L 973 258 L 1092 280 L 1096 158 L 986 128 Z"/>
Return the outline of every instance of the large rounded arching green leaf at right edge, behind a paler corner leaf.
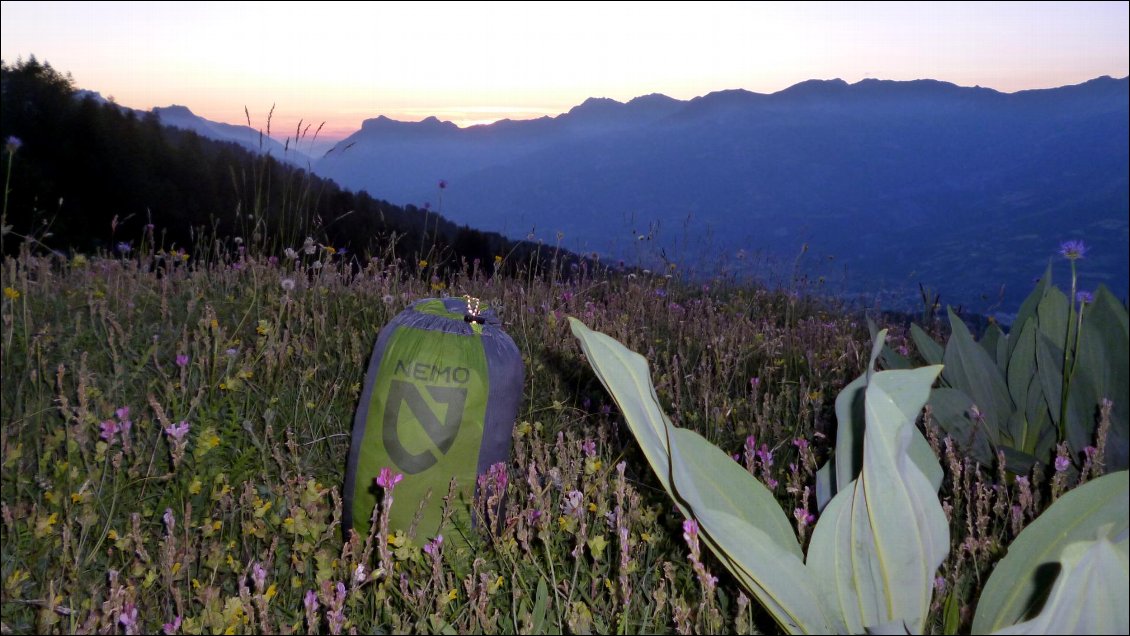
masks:
<path fill-rule="evenodd" d="M 1046 598 L 1063 549 L 1093 540 L 1098 529 L 1113 524 L 1110 535 L 1130 528 L 1130 477 L 1112 472 L 1063 495 L 1036 517 L 1008 547 L 993 568 L 977 601 L 973 633 L 988 634 L 1032 618 Z M 1125 611 L 1125 598 L 1121 608 Z"/>

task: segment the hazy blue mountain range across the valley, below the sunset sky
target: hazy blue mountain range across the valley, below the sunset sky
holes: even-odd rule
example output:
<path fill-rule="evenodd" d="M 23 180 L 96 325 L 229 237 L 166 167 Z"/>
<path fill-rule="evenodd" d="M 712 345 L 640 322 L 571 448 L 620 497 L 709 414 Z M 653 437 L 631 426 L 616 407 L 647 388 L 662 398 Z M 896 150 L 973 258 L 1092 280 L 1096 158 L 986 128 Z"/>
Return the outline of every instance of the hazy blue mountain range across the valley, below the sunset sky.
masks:
<path fill-rule="evenodd" d="M 841 291 L 1015 307 L 1060 242 L 1125 297 L 1130 80 L 1005 94 L 937 80 L 809 80 L 773 94 L 590 98 L 460 129 L 366 120 L 314 163 L 345 186 L 435 202 L 457 223 L 683 263 L 809 247 Z M 658 232 L 655 228 L 659 228 Z M 635 243 L 634 243 L 635 242 Z M 1084 264 L 1084 263 L 1081 263 Z M 902 291 L 896 291 L 902 290 Z"/>

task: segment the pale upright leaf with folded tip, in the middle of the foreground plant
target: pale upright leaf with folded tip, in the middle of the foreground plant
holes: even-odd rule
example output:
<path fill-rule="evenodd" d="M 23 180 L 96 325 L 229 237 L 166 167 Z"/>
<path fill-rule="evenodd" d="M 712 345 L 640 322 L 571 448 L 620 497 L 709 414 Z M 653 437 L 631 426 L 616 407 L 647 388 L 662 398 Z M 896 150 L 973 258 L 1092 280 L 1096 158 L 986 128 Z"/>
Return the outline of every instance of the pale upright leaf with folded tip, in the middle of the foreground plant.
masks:
<path fill-rule="evenodd" d="M 924 627 L 949 528 L 909 450 L 914 420 L 940 371 L 872 375 L 860 477 L 832 499 L 812 533 L 808 565 L 851 633 L 892 622 L 914 631 Z"/>

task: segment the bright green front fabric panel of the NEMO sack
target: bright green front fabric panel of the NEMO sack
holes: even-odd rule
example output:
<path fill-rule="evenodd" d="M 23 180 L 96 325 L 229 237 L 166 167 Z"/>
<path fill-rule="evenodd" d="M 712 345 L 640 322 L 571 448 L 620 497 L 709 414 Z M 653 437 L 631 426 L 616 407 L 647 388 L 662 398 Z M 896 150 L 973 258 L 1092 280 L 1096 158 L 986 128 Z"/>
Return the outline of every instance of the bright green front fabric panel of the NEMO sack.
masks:
<path fill-rule="evenodd" d="M 373 480 L 382 468 L 405 476 L 393 491 L 391 531 L 407 531 L 432 490 L 418 542 L 436 534 L 452 477 L 471 500 L 488 387 L 480 337 L 397 328 L 381 359 L 357 458 L 353 523 L 362 537 L 381 496 Z M 467 519 L 469 508 L 458 505 L 454 513 Z"/>

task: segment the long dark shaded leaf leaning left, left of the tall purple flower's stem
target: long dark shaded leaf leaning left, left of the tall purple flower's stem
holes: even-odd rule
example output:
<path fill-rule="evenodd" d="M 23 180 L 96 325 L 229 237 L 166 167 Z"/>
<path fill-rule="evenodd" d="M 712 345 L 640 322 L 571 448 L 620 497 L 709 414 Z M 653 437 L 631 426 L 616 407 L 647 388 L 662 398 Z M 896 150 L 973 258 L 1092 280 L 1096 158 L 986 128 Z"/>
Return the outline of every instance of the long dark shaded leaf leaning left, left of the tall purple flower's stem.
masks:
<path fill-rule="evenodd" d="M 999 430 L 1012 411 L 1012 402 L 1008 397 L 1008 386 L 1001 377 L 997 363 L 973 340 L 968 328 L 949 311 L 949 325 L 953 333 L 946 343 L 946 371 L 942 377 L 954 389 L 960 389 L 973 398 L 993 430 Z"/>

